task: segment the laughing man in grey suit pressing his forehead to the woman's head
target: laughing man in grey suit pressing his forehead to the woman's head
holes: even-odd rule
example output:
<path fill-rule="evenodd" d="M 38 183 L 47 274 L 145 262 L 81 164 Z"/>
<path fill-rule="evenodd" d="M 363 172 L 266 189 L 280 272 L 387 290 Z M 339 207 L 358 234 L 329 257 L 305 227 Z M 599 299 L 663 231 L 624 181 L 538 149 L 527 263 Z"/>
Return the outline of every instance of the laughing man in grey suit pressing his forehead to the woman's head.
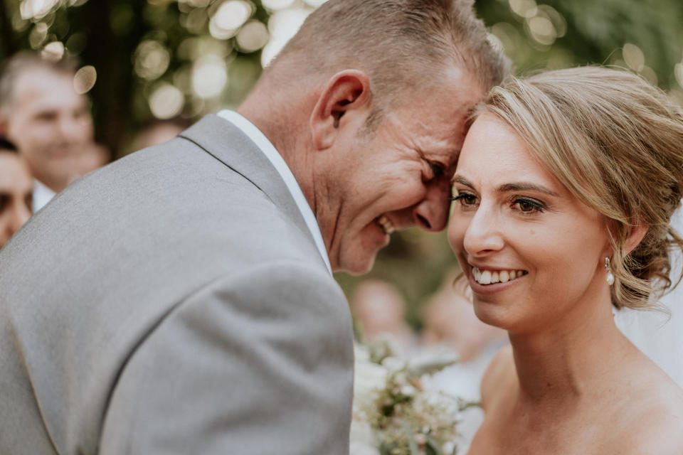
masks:
<path fill-rule="evenodd" d="M 0 453 L 347 454 L 331 272 L 445 227 L 504 73 L 471 3 L 329 0 L 238 112 L 35 215 L 0 254 Z"/>

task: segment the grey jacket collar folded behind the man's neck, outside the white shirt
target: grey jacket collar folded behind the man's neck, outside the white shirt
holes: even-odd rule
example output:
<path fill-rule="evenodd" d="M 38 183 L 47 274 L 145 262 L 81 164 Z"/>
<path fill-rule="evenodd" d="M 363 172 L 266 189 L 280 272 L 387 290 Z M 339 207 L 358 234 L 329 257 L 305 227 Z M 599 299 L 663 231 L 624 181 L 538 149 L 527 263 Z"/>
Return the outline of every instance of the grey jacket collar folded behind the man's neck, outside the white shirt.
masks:
<path fill-rule="evenodd" d="M 218 161 L 247 178 L 314 243 L 306 221 L 280 173 L 242 130 L 221 117 L 207 115 L 180 136 L 193 141 Z"/>

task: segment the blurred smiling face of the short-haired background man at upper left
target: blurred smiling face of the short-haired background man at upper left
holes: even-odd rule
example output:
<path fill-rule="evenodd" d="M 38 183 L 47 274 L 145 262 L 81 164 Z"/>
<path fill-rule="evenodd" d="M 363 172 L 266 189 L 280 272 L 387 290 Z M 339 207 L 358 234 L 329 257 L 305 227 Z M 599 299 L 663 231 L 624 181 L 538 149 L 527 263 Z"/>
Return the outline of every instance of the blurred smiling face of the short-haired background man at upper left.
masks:
<path fill-rule="evenodd" d="M 92 141 L 92 118 L 73 75 L 27 68 L 18 75 L 6 135 L 39 181 L 60 191 L 78 176 L 76 162 Z"/>

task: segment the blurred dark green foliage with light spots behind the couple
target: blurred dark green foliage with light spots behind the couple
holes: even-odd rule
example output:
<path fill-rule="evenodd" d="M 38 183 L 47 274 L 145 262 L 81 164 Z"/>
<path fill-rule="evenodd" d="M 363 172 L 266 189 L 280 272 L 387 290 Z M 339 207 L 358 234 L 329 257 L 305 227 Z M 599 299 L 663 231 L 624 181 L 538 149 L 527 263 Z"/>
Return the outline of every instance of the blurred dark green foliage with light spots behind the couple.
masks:
<path fill-rule="evenodd" d="M 58 42 L 83 65 L 93 65 L 97 82 L 90 97 L 97 140 L 116 157 L 126 139 L 154 117 L 150 99 L 162 82 L 182 94 L 178 113 L 196 118 L 237 106 L 258 80 L 265 42 L 248 48 L 236 38 L 238 30 L 211 29 L 227 1 L 235 0 L 0 0 L 0 60 L 20 49 L 41 50 Z M 258 21 L 268 26 L 271 40 L 269 18 L 276 11 L 265 6 L 284 4 L 301 13 L 315 4 L 240 2 L 249 9 L 240 28 Z M 618 65 L 640 73 L 683 104 L 680 0 L 477 0 L 475 7 L 518 74 Z M 208 54 L 221 59 L 226 83 L 213 95 L 199 96 L 193 71 Z M 457 266 L 445 234 L 408 230 L 393 235 L 370 276 L 396 284 L 406 296 L 408 319 L 418 328 L 425 296 L 452 267 Z M 362 279 L 336 277 L 349 296 Z"/>

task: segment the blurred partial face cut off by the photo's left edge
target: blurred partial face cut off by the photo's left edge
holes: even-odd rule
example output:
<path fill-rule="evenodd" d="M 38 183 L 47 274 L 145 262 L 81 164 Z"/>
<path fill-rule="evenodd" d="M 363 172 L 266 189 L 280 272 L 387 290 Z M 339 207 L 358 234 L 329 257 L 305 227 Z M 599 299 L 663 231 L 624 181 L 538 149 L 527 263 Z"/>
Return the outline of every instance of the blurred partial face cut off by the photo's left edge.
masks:
<path fill-rule="evenodd" d="M 0 248 L 31 217 L 33 179 L 15 153 L 0 150 Z"/>

